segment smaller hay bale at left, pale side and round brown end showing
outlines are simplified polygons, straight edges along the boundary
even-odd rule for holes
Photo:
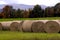
[[[18,31],[22,21],[1,22],[1,30]]]

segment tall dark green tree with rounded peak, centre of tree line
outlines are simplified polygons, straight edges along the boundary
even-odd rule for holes
[[[32,18],[42,17],[43,13],[42,13],[41,6],[35,5],[29,16]]]

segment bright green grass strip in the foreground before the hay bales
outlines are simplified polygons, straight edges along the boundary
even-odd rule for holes
[[[60,34],[0,31],[0,40],[60,40]]]

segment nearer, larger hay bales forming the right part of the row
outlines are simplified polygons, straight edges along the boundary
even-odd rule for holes
[[[47,32],[58,33],[60,30],[60,22],[58,20],[26,20],[22,24],[24,32]]]

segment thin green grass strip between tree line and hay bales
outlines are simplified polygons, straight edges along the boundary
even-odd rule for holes
[[[46,17],[46,18],[2,18],[0,21],[14,21],[14,20],[60,20],[60,17]]]

